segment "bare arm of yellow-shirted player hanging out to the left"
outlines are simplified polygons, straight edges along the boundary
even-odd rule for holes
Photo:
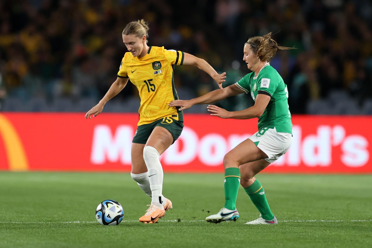
[[[85,114],[85,119],[91,119],[91,115],[93,117],[99,115],[102,110],[103,106],[114,96],[116,96],[124,87],[126,86],[126,83],[128,83],[129,78],[121,78],[118,77],[116,78],[115,82],[111,85],[105,96],[99,101],[99,103],[92,107],[86,114]]]

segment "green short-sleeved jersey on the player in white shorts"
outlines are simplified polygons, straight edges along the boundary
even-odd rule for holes
[[[275,127],[277,132],[292,134],[288,89],[283,78],[269,63],[262,67],[257,77],[251,72],[235,84],[245,93],[251,93],[254,101],[259,93],[271,97],[263,115],[258,118],[259,130]]]

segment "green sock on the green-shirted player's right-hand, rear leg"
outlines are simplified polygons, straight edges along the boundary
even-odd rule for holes
[[[260,211],[262,218],[265,220],[272,220],[274,218],[274,215],[270,210],[269,203],[267,203],[265,191],[263,190],[260,182],[256,179],[256,181],[254,181],[251,186],[244,188],[244,190],[246,190],[254,206],[256,206],[257,209]]]

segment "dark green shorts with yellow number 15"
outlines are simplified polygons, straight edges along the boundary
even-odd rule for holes
[[[183,122],[175,120],[171,117],[164,117],[163,119],[155,120],[154,122],[138,126],[132,142],[146,144],[148,137],[150,137],[156,126],[161,126],[167,129],[173,136],[174,143],[174,141],[176,141],[176,139],[178,139],[178,137],[181,135]]]

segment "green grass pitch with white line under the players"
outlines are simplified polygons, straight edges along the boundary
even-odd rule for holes
[[[138,222],[150,204],[129,173],[0,172],[0,247],[372,247],[372,175],[259,175],[278,225],[259,217],[240,188],[236,222],[205,217],[224,205],[223,174],[165,174],[173,210]],[[124,208],[123,222],[102,226],[96,206]]]

